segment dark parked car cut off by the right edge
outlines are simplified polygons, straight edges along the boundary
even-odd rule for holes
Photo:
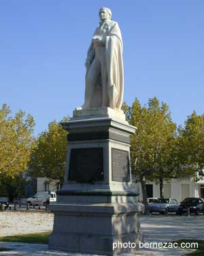
[[[198,197],[187,197],[180,203],[180,207],[177,210],[177,214],[182,215],[182,213],[186,213],[189,208],[190,214],[194,213],[199,215],[199,213],[204,214],[204,201]]]

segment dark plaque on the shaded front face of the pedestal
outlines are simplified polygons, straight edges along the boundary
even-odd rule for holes
[[[103,180],[103,147],[71,149],[69,181],[96,182]]]

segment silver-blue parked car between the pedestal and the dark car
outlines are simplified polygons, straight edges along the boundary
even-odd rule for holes
[[[161,214],[168,214],[168,212],[177,212],[180,203],[174,198],[158,198],[149,205],[150,213],[160,212]]]

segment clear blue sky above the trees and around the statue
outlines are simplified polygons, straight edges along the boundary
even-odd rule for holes
[[[35,134],[84,102],[84,61],[101,6],[124,43],[124,100],[167,102],[176,124],[204,113],[204,1],[0,1],[0,104]]]

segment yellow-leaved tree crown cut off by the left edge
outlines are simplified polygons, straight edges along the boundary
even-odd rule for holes
[[[27,170],[35,146],[35,125],[31,115],[18,111],[14,117],[9,106],[0,109],[0,176],[14,178]]]

